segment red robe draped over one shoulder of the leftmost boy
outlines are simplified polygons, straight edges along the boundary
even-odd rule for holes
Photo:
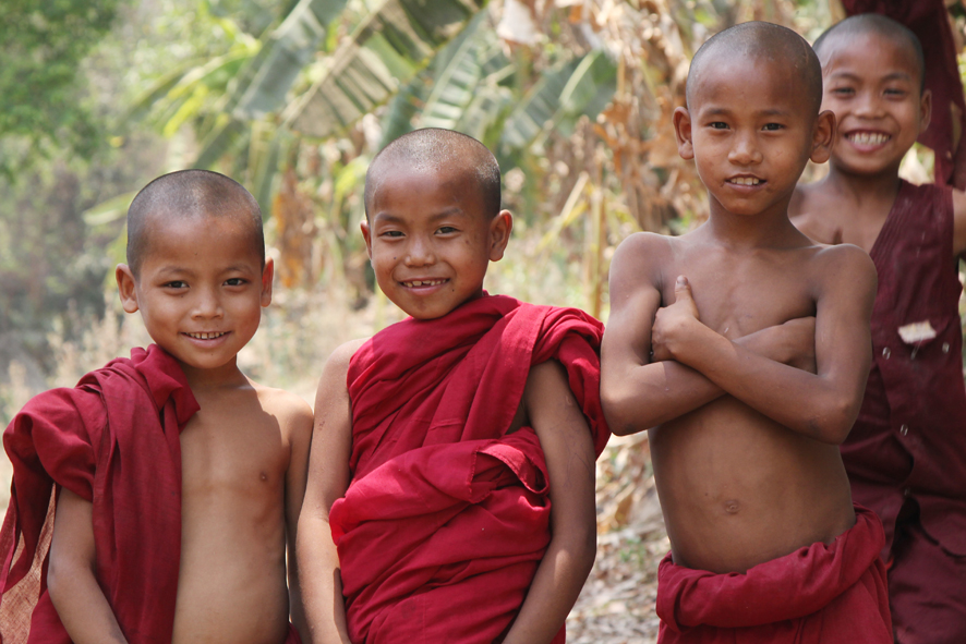
[[[96,575],[128,641],[170,643],[180,433],[197,409],[178,362],[152,345],[37,396],[13,418],[3,434],[13,484],[0,532],[0,642],[70,642],[46,584],[57,485],[94,505]]]

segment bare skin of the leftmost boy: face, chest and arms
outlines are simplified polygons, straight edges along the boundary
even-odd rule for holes
[[[196,228],[196,230],[195,230]],[[204,233],[202,233],[204,229]],[[201,405],[181,433],[181,562],[172,642],[280,644],[303,625],[288,571],[305,491],[312,411],[239,370],[238,350],[271,296],[244,226],[174,221],[153,231],[140,278],[118,268],[125,311],[181,364]],[[191,335],[212,337],[192,337]],[[63,490],[50,548],[50,597],[77,644],[125,642],[94,576],[92,505]]]

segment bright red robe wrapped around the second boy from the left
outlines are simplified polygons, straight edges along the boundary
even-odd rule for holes
[[[353,642],[490,644],[506,632],[551,536],[540,441],[507,429],[531,365],[555,359],[600,453],[602,335],[580,311],[484,296],[355,353],[353,481],[329,517]]]

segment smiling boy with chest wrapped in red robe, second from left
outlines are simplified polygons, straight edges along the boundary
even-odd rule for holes
[[[411,317],[336,350],[318,385],[312,642],[563,642],[596,543],[603,328],[483,290],[512,218],[478,141],[403,135],[365,196],[376,280]]]

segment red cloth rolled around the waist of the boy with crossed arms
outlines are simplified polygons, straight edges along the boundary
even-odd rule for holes
[[[657,571],[659,642],[674,644],[891,644],[885,543],[873,512],[832,545],[819,542],[745,574],[676,566]]]

